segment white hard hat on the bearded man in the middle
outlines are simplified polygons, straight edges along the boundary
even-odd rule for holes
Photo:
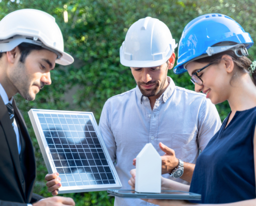
[[[120,61],[131,67],[159,66],[167,62],[176,47],[167,25],[148,16],[127,31],[120,47]]]

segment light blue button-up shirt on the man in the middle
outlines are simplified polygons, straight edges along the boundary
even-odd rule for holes
[[[115,163],[122,189],[130,190],[132,160],[147,143],[152,143],[162,156],[159,142],[175,150],[178,159],[195,164],[203,150],[219,130],[221,121],[216,107],[202,93],[169,85],[156,100],[153,110],[148,97],[138,86],[109,98],[103,107],[99,129]],[[165,178],[189,184],[170,175]],[[150,180],[148,180],[150,181]],[[140,199],[115,197],[115,205],[149,205]]]

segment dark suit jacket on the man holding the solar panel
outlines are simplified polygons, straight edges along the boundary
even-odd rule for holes
[[[8,110],[0,96],[0,205],[1,206],[25,206],[42,197],[33,194],[36,178],[36,162],[32,141],[27,132],[24,119],[12,102],[14,116],[19,125],[25,145],[28,162],[26,171],[29,174],[26,179],[26,191],[23,190],[24,177],[20,164],[16,133],[13,130]]]

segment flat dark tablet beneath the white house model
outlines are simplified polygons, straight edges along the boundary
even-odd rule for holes
[[[134,190],[108,190],[108,193],[123,198],[201,200],[201,195],[183,191],[163,190],[161,193],[137,193]]]

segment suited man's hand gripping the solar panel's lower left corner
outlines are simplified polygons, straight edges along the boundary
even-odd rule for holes
[[[46,179],[46,186],[48,187],[48,192],[52,193],[53,196],[58,194],[58,188],[62,186],[61,178],[58,177],[58,173],[47,174],[44,179]]]

